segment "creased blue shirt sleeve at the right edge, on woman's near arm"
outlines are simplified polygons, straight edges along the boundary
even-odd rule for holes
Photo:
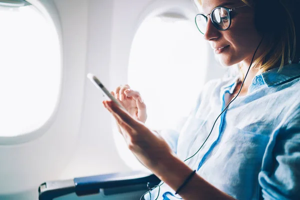
[[[299,110],[300,106],[289,109],[270,137],[258,175],[264,199],[300,199]]]

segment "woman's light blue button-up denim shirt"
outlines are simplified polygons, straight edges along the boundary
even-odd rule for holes
[[[207,82],[180,132],[161,131],[181,160],[202,145],[236,80]],[[236,199],[300,199],[300,65],[256,75],[185,163]],[[180,198],[174,193],[164,183],[158,199]]]

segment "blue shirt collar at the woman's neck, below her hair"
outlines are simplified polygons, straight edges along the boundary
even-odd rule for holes
[[[300,76],[300,64],[288,64],[261,73],[264,83],[270,87]]]

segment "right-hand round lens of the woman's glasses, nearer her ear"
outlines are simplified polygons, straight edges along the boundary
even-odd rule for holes
[[[223,7],[218,7],[211,14],[212,21],[220,30],[225,30],[229,27],[229,13]]]

